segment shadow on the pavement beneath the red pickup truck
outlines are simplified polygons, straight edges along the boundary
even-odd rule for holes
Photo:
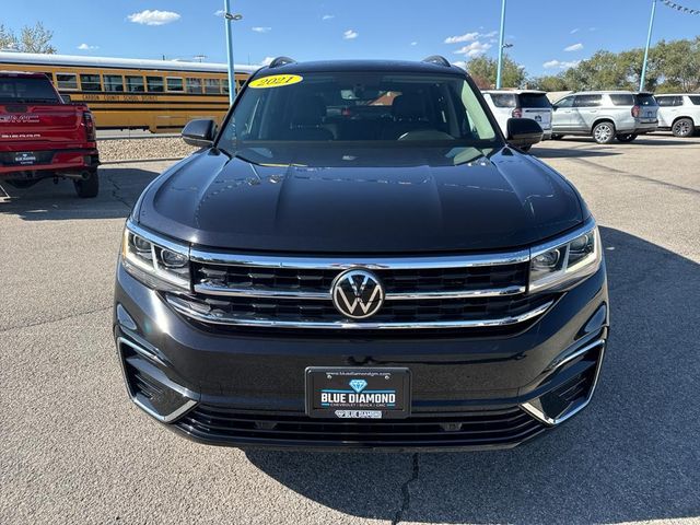
[[[80,199],[70,180],[39,180],[26,188],[0,184],[0,213],[19,215],[25,221],[126,218],[143,188],[161,172],[135,167],[100,168],[100,195]]]

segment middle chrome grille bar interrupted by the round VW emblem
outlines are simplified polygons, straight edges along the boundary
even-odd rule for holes
[[[525,293],[526,287],[505,287],[485,290],[454,290],[444,292],[411,292],[387,293],[386,301],[406,301],[424,299],[471,299],[471,298],[500,298],[504,295],[517,295]],[[213,284],[195,284],[195,292],[207,295],[224,295],[233,298],[267,298],[267,299],[307,299],[317,301],[330,301],[330,292],[313,292],[298,290],[269,290],[260,288],[228,288]]]

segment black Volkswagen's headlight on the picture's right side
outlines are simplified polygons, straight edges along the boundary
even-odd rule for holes
[[[600,234],[594,224],[583,232],[533,248],[529,291],[569,288],[595,273],[602,260]]]

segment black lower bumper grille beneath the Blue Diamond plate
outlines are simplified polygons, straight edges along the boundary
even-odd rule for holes
[[[348,422],[301,413],[280,416],[198,405],[176,425],[192,438],[211,443],[348,447],[508,446],[546,429],[518,407],[458,416]]]

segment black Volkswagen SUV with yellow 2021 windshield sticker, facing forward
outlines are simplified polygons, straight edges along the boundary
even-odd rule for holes
[[[608,337],[600,238],[474,82],[280,58],[158,177],[124,232],[131,399],[234,446],[490,448],[585,407]]]

